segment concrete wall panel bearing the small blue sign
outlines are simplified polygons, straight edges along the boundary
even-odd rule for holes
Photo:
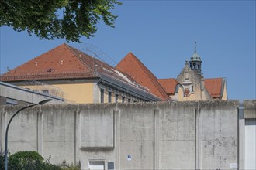
[[[119,104],[121,169],[154,168],[155,104]],[[131,160],[128,160],[128,155]]]

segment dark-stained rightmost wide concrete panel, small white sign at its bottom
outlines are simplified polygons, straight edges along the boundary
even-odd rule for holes
[[[201,104],[200,168],[229,169],[230,165],[238,164],[237,105],[227,101]]]

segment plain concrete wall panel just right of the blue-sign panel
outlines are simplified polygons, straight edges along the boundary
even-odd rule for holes
[[[160,103],[161,168],[195,168],[195,113],[190,103]],[[184,163],[185,162],[185,163]]]

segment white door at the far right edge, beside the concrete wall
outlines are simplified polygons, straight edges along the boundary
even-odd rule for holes
[[[245,119],[244,169],[256,169],[256,119]]]

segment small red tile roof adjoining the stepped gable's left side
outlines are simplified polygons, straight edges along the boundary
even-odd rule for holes
[[[161,84],[161,86],[164,88],[166,93],[168,93],[169,95],[175,93],[175,88],[178,84],[177,80],[171,78],[171,79],[158,79],[157,81]]]

